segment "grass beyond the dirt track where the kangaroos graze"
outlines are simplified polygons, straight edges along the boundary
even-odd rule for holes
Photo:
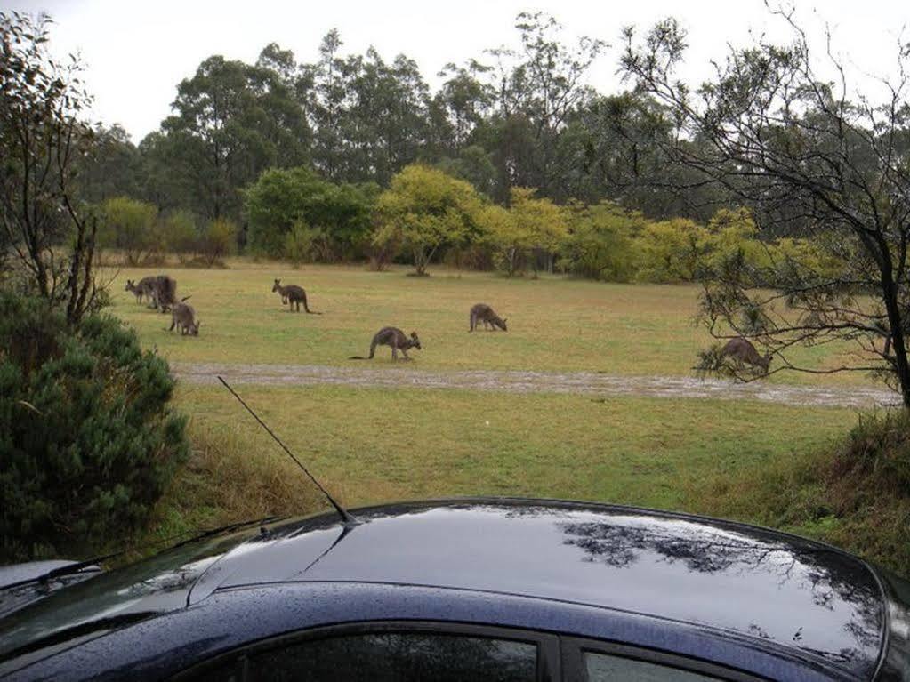
[[[136,305],[126,278],[167,270],[178,296],[202,322],[196,339],[167,334],[170,318]],[[113,312],[139,331],[147,346],[179,361],[349,365],[382,326],[416,330],[414,353],[426,369],[589,370],[621,375],[691,375],[700,348],[712,339],[696,326],[697,286],[615,285],[565,277],[507,279],[434,268],[415,278],[407,269],[374,273],[359,266],[256,264],[236,260],[228,269],[124,269],[114,281]],[[272,281],[307,289],[322,316],[283,312]],[[509,320],[509,332],[467,333],[477,302]],[[287,309],[287,308],[285,308]],[[389,364],[388,349],[377,364]],[[828,347],[795,354],[811,366],[833,366]],[[784,383],[864,382],[863,376],[781,373]]]

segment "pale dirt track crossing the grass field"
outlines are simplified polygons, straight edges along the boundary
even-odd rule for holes
[[[179,379],[193,384],[262,386],[386,386],[460,388],[505,393],[568,393],[584,396],[642,396],[764,400],[784,405],[870,407],[898,402],[897,394],[863,387],[782,386],[755,381],[736,384],[687,376],[616,376],[595,372],[477,370],[434,372],[411,366],[372,368],[313,365],[220,365],[171,363]]]

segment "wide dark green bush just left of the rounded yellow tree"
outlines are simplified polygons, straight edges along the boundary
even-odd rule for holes
[[[375,186],[337,185],[300,166],[270,169],[244,192],[249,244],[259,252],[281,256],[286,236],[299,221],[326,236],[315,254],[334,260],[356,254],[370,226]]]

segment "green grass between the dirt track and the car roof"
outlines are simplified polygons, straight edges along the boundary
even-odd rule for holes
[[[818,447],[854,421],[843,409],[715,400],[338,386],[238,391],[350,506],[504,495],[700,511],[683,480],[733,476]],[[226,391],[184,386],[177,403],[197,432],[238,439],[250,460],[289,466],[288,476],[297,476]],[[231,468],[221,476],[233,476]]]

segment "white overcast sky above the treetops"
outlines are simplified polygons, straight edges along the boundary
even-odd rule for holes
[[[728,42],[741,44],[750,30],[784,35],[763,0],[6,0],[4,5],[43,10],[54,18],[54,51],[83,56],[94,115],[106,125],[123,125],[136,143],[157,129],[170,113],[177,83],[207,56],[254,62],[262,47],[276,42],[293,50],[298,62],[315,61],[320,39],[333,27],[344,41],[342,53],[362,53],[369,45],[388,60],[403,53],[435,87],[440,67],[480,57],[489,47],[514,45],[515,15],[542,10],[561,21],[569,39],[591,35],[613,45],[591,71],[591,85],[602,92],[621,87],[615,72],[623,25],[646,27],[676,16],[689,32],[687,70],[695,76],[706,74],[708,60],[723,56]],[[832,26],[836,49],[856,74],[892,71],[895,45],[910,21],[906,3],[797,0],[796,6],[816,36],[824,22]]]

